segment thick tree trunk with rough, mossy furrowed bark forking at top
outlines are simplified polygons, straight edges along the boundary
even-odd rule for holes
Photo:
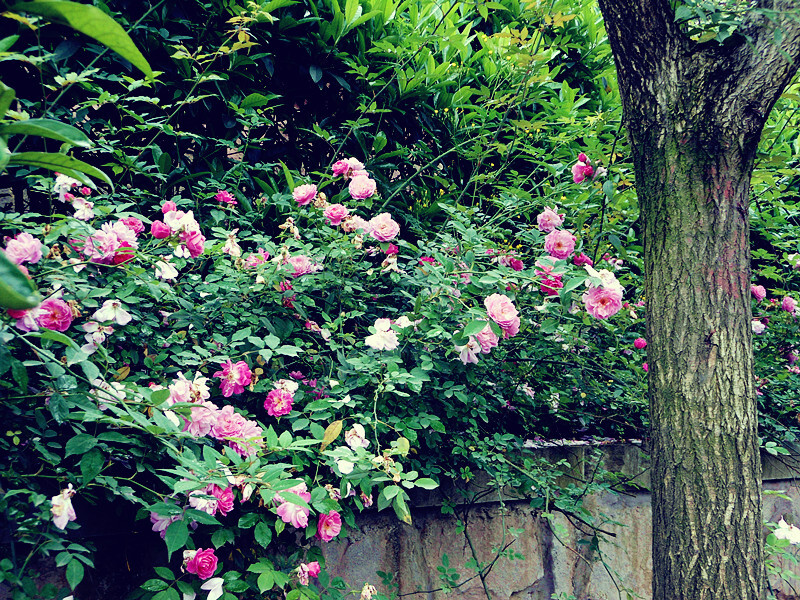
[[[766,115],[797,68],[800,0],[761,2],[724,45],[688,39],[667,0],[600,7],[644,231],[653,597],[763,598],[748,204]]]

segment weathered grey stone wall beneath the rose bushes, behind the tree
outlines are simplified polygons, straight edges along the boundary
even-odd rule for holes
[[[603,449],[606,466],[614,467],[642,486],[649,484],[647,460],[639,448],[615,445]],[[551,448],[553,458],[567,457],[575,475],[584,475],[587,462],[585,447]],[[782,515],[796,515],[800,521],[800,474],[794,460],[778,461],[767,456],[764,462],[764,518],[777,521]],[[769,491],[781,490],[781,497]],[[439,492],[441,494],[442,492]],[[443,492],[445,495],[447,491]],[[434,494],[417,499],[412,509],[413,525],[400,522],[393,514],[365,512],[357,519],[360,530],[347,539],[325,544],[323,552],[332,575],[343,577],[353,587],[365,582],[388,591],[376,575],[378,571],[394,574],[402,597],[419,600],[550,600],[561,594],[576,600],[619,600],[651,597],[651,513],[646,489],[631,488],[623,494],[604,493],[586,498],[585,506],[595,515],[605,515],[604,535],[599,545],[592,544],[590,530],[562,514],[551,521],[530,507],[525,500],[506,498],[501,503],[481,502],[461,507],[472,545],[479,562],[488,563],[496,553],[493,548],[512,542],[509,550],[524,559],[499,558],[485,581],[474,577],[447,593],[442,590],[439,568],[447,555],[449,566],[463,582],[475,575],[468,568],[472,559],[470,545],[459,532],[458,519],[443,515]],[[577,526],[576,526],[577,525]],[[521,529],[519,537],[509,529]],[[583,531],[582,531],[583,529]],[[800,573],[800,569],[795,568]],[[795,598],[786,583],[772,582],[781,598]],[[484,589],[485,585],[485,589]]]

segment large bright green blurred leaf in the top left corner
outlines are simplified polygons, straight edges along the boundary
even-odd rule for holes
[[[15,4],[10,10],[69,25],[119,54],[148,78],[153,78],[153,70],[122,26],[95,6],[62,0],[35,0]]]

